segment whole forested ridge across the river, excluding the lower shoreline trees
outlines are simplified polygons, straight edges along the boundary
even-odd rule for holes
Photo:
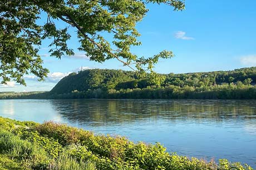
[[[252,79],[250,84],[256,83],[256,67],[240,68],[234,71],[197,72],[184,74],[165,74],[163,87],[174,86],[214,86],[215,84],[244,82]],[[248,82],[247,82],[248,83]],[[51,90],[51,93],[63,94],[73,91],[88,91],[93,89],[134,89],[154,86],[146,79],[139,79],[135,72],[115,69],[87,69],[78,73],[71,73],[61,79]]]

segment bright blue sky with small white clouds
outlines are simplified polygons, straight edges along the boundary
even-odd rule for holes
[[[137,24],[142,46],[132,48],[139,56],[152,56],[168,49],[175,57],[161,60],[155,70],[159,73],[186,73],[232,70],[256,66],[256,1],[186,0],[186,10],[174,12],[164,4],[147,4],[149,12]],[[49,91],[68,73],[87,68],[126,69],[115,59],[105,63],[92,62],[75,48],[76,54],[62,59],[48,56],[48,41],[42,44],[46,68],[50,70],[45,82],[26,76],[27,87],[8,82],[0,91]]]

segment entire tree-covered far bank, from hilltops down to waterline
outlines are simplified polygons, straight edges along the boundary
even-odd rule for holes
[[[164,74],[161,87],[135,72],[88,69],[71,73],[47,98],[256,98],[256,67],[234,71]]]

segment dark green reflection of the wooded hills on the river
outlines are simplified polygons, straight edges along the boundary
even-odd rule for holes
[[[55,100],[51,106],[68,121],[99,126],[143,119],[168,121],[237,122],[256,118],[255,101]]]

